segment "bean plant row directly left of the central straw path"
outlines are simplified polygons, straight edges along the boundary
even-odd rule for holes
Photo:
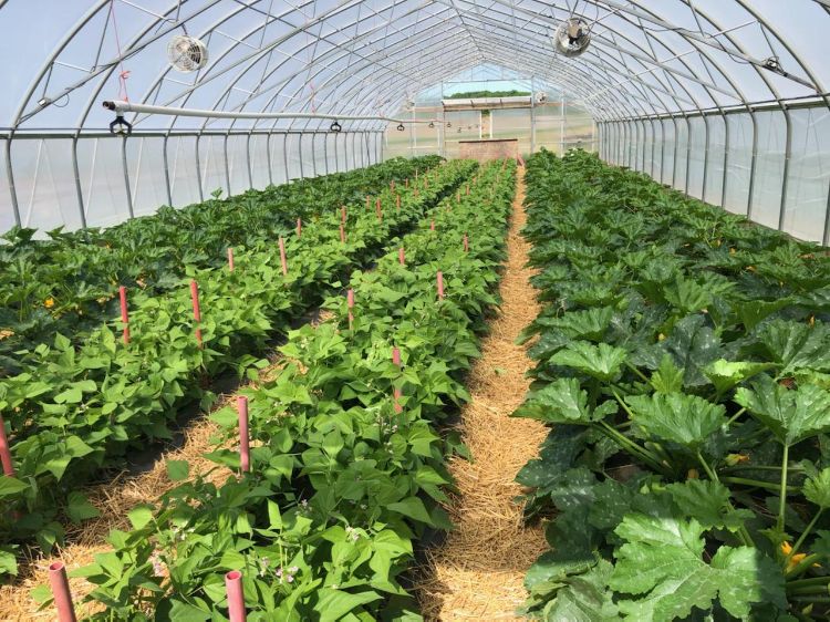
[[[353,276],[353,307],[331,298],[332,319],[289,334],[280,373],[243,391],[250,471],[220,485],[203,474],[132,510],[134,529],[113,531],[114,550],[75,572],[107,608],[93,619],[226,620],[230,570],[242,572],[248,620],[419,619],[398,578],[413,540],[449,527],[445,455],[463,448],[432,424],[468,398],[513,182],[513,163],[484,167],[469,195],[394,245],[405,265],[391,251]],[[239,468],[221,448],[238,438],[236,412],[214,418],[226,433],[210,457]],[[172,477],[187,477],[181,466]]]

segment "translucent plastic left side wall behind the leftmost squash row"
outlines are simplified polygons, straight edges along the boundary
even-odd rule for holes
[[[20,134],[0,149],[0,232],[111,227],[293,179],[382,160],[382,132]],[[11,164],[9,164],[11,163]]]

